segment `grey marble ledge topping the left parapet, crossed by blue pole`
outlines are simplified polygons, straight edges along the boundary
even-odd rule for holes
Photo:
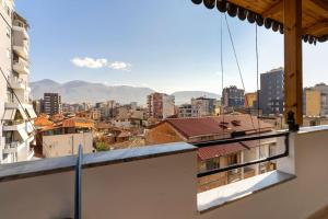
[[[136,160],[151,159],[195,150],[197,150],[197,148],[191,145],[176,142],[89,153],[83,155],[83,168],[131,162]],[[77,157],[69,155],[62,158],[50,158],[37,161],[3,164],[0,165],[0,182],[72,171],[75,166],[75,163]]]

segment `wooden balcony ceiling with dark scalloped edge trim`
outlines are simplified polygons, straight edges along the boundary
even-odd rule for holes
[[[283,0],[191,0],[208,9],[216,8],[231,16],[283,33]],[[301,0],[300,0],[301,1]],[[302,0],[303,39],[308,43],[328,41],[328,0]]]

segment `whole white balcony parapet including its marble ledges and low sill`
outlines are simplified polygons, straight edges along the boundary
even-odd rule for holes
[[[327,126],[292,132],[276,171],[203,193],[196,148],[184,142],[84,154],[82,218],[308,218],[328,206],[327,141]],[[72,218],[75,163],[63,157],[1,165],[0,218]]]

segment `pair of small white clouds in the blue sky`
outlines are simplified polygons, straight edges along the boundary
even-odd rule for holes
[[[124,70],[124,71],[130,71],[131,65],[124,62],[124,61],[114,61],[109,62],[105,58],[94,59],[90,57],[79,58],[75,57],[71,60],[71,62],[80,68],[92,68],[92,69],[98,69],[108,67],[114,70]]]

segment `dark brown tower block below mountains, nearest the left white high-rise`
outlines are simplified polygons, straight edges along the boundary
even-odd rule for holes
[[[44,93],[43,113],[54,116],[61,114],[61,96],[58,93]]]

